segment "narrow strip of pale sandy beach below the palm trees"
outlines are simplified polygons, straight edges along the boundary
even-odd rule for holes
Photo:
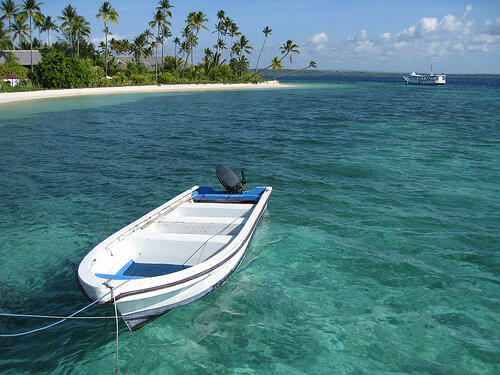
[[[71,96],[85,95],[110,95],[110,94],[133,94],[147,92],[181,92],[181,91],[215,91],[215,90],[245,90],[245,89],[267,89],[284,88],[278,81],[267,81],[262,83],[205,83],[205,84],[175,84],[175,85],[150,85],[150,86],[120,86],[120,87],[93,87],[82,89],[61,90],[39,90],[25,92],[0,93],[0,105],[13,102],[30,100],[65,98]]]

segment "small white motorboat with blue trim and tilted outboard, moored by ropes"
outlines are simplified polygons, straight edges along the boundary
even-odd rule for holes
[[[238,177],[227,171],[226,191],[194,186],[91,250],[78,267],[82,292],[115,302],[133,331],[220,286],[241,263],[272,193],[232,190]]]

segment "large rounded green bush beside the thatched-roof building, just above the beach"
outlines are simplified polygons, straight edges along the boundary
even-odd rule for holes
[[[35,65],[33,78],[45,88],[89,87],[99,80],[99,71],[89,59],[64,57],[61,52],[51,52]]]

